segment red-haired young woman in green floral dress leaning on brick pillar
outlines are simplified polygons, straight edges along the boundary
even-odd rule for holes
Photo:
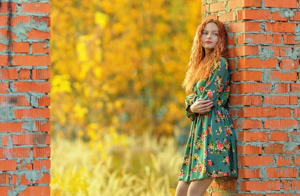
[[[192,121],[175,196],[203,196],[215,177],[237,176],[235,132],[224,107],[229,96],[224,24],[198,26],[182,86],[185,114]]]

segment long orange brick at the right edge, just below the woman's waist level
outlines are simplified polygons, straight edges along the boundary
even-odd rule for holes
[[[294,119],[266,119],[263,128],[297,128],[297,120]]]

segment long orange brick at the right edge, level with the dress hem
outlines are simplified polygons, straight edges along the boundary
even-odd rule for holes
[[[297,169],[295,167],[275,167],[265,168],[267,177],[296,177]]]

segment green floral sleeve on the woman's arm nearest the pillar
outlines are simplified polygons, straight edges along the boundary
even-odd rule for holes
[[[200,90],[203,92],[201,97],[204,100],[211,100],[212,105],[215,105],[224,86],[226,85],[225,82],[229,74],[226,58],[221,57],[221,60],[216,62],[211,70],[211,74],[208,77],[205,87]]]

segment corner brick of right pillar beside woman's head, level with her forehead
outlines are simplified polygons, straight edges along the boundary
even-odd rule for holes
[[[228,24],[228,32],[260,32],[260,22],[235,22]]]

